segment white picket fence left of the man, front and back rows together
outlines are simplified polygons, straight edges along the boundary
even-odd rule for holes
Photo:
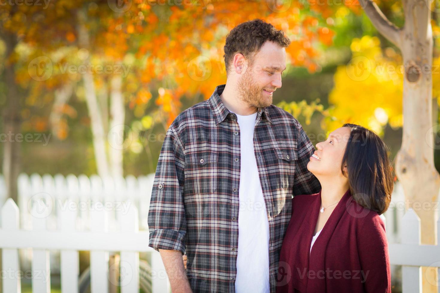
[[[120,286],[122,293],[139,292],[139,253],[143,252],[150,254],[152,291],[169,292],[160,254],[148,247],[146,221],[153,179],[154,175],[127,177],[114,183],[97,176],[21,174],[19,205],[7,199],[1,207],[3,292],[21,292],[20,281],[26,274],[32,276],[33,293],[50,292],[53,264],[61,274],[62,292],[77,293],[78,251],[83,250],[90,251],[92,293],[109,292],[112,285]],[[109,253],[120,255],[110,268]],[[120,279],[110,277],[112,270],[121,273]]]

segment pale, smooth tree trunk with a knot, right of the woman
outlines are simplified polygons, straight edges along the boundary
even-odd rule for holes
[[[396,157],[396,174],[403,186],[407,208],[412,208],[420,217],[422,244],[433,245],[436,244],[435,202],[440,175],[434,166],[432,0],[403,0],[405,25],[402,29],[389,22],[371,0],[360,0],[360,3],[376,29],[402,51],[403,137]],[[435,270],[422,268],[422,279],[423,292],[437,292]]]

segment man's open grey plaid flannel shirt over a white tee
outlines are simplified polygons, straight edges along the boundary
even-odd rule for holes
[[[220,99],[224,86],[169,127],[148,213],[149,246],[186,251],[194,292],[235,293],[240,129],[237,116]],[[320,190],[307,170],[315,148],[301,124],[274,105],[258,110],[253,143],[268,212],[269,281],[275,292],[292,196]]]

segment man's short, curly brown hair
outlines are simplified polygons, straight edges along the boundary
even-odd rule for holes
[[[273,25],[262,19],[254,19],[237,25],[226,36],[224,45],[224,64],[226,73],[237,53],[243,54],[249,63],[253,64],[255,54],[260,51],[266,41],[278,43],[281,47],[288,47],[290,39],[282,30],[275,29]]]

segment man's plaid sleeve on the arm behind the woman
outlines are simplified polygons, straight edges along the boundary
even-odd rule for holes
[[[307,169],[307,164],[315,152],[315,147],[299,122],[297,123],[296,133],[298,161],[293,182],[293,195],[318,193],[321,190],[321,184],[315,175]]]

